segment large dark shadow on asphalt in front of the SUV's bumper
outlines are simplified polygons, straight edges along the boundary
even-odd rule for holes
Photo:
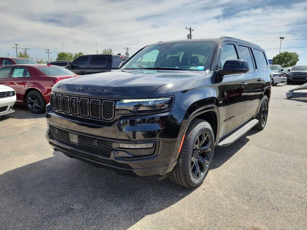
[[[127,229],[195,190],[53,154],[0,175],[2,229]]]

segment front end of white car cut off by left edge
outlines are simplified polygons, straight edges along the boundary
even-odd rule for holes
[[[12,109],[16,102],[15,90],[11,87],[0,85],[0,117],[14,113]]]

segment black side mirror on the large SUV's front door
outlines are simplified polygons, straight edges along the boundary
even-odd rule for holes
[[[218,70],[220,75],[229,74],[244,74],[249,71],[247,61],[244,60],[227,60],[224,63],[223,69]]]

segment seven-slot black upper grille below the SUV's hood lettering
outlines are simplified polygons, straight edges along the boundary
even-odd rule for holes
[[[114,118],[115,101],[99,98],[83,98],[52,93],[50,97],[52,110],[74,116],[103,119]]]

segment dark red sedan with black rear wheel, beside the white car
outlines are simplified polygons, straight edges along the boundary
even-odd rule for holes
[[[0,68],[0,85],[16,91],[16,105],[26,105],[32,113],[44,113],[52,86],[74,72],[50,64],[6,65]]]

